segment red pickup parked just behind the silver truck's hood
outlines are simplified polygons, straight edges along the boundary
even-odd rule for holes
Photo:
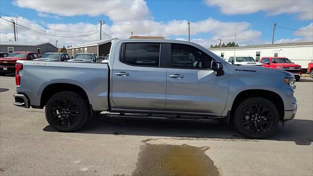
[[[260,63],[268,68],[289,71],[294,75],[296,81],[299,81],[302,75],[301,66],[294,64],[291,60],[285,57],[263,57],[261,58]]]

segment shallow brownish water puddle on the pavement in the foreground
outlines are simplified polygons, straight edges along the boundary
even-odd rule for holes
[[[145,144],[139,153],[133,176],[220,176],[204,152],[209,147]]]

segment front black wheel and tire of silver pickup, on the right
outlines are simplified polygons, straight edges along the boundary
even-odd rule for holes
[[[248,138],[262,139],[267,137],[276,130],[278,122],[277,108],[265,98],[246,99],[235,110],[234,123],[236,129]]]

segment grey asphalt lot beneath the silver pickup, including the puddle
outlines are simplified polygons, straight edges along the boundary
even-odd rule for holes
[[[44,110],[12,105],[14,77],[0,77],[0,175],[313,175],[313,79],[296,83],[294,120],[266,140],[223,122],[98,117],[55,132]]]

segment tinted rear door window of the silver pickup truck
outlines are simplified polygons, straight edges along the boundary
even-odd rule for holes
[[[123,62],[134,66],[159,66],[159,43],[126,43]]]

